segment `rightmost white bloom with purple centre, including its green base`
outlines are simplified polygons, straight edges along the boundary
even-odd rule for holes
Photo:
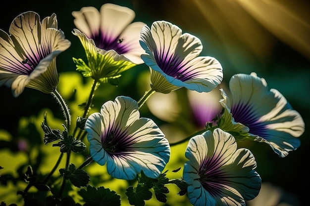
[[[269,90],[255,73],[234,75],[229,88],[229,96],[221,90],[225,109],[218,124],[221,129],[234,134],[237,141],[265,142],[280,157],[300,146],[296,137],[305,131],[305,123],[278,90]]]

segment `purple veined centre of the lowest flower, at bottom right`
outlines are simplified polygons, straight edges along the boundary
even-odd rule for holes
[[[227,182],[225,173],[222,172],[219,167],[220,158],[213,156],[209,159],[205,159],[201,163],[198,171],[200,183],[203,188],[213,196],[220,195],[222,184]]]

